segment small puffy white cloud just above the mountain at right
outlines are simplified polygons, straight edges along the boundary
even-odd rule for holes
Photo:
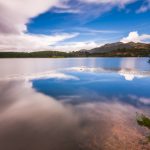
[[[139,35],[139,33],[137,31],[134,31],[134,32],[130,32],[127,37],[122,38],[121,42],[123,42],[123,43],[128,43],[128,42],[138,43],[138,42],[146,42],[147,40],[150,40],[149,34]]]

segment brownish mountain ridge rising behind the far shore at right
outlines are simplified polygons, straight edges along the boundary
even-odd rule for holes
[[[150,44],[145,44],[145,43],[134,43],[134,42],[129,42],[129,43],[122,43],[122,42],[117,42],[117,43],[111,43],[111,44],[105,44],[104,46],[94,48],[92,50],[89,50],[88,52],[93,54],[93,53],[107,53],[107,52],[112,52],[112,51],[123,51],[123,50],[150,50]]]

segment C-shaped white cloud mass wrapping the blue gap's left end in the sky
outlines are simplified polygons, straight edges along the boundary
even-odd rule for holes
[[[67,0],[0,0],[0,50],[45,50],[49,45],[73,38],[77,33],[37,35],[27,33],[30,20],[52,7],[63,7]]]

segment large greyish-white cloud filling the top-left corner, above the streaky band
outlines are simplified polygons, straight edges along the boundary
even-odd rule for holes
[[[0,33],[20,34],[27,31],[26,24],[31,18],[53,6],[61,6],[61,0],[0,0]]]

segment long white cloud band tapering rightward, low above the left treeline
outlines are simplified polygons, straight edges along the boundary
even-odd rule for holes
[[[0,35],[0,51],[37,51],[49,50],[51,45],[76,37],[78,33],[59,35],[11,34]]]

